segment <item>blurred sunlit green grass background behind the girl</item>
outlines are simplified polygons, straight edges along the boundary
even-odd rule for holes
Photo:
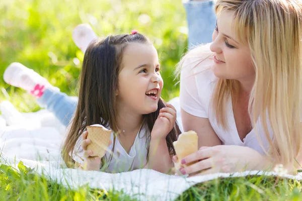
[[[0,102],[10,100],[20,112],[39,110],[35,98],[4,82],[3,73],[12,62],[34,69],[68,95],[77,95],[84,54],[71,34],[82,23],[90,24],[99,36],[135,29],[150,38],[162,63],[162,97],[169,100],[179,94],[173,72],[187,48],[181,0],[1,0]]]

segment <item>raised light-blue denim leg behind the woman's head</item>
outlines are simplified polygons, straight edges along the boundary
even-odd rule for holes
[[[216,26],[213,0],[188,1],[184,3],[188,21],[188,43],[194,45],[212,42]]]

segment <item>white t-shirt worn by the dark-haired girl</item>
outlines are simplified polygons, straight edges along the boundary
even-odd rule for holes
[[[109,129],[109,128],[108,128]],[[118,138],[115,138],[115,147],[112,155],[111,161],[109,164],[107,163],[107,168],[104,170],[108,173],[119,173],[119,172],[127,172],[135,169],[142,169],[146,165],[146,156],[147,156],[147,148],[146,148],[146,139],[149,135],[149,132],[146,132],[145,128],[140,129],[140,132],[137,133],[134,143],[129,151],[129,154],[125,151],[125,149],[120,144]],[[110,140],[113,142],[114,134],[111,133]],[[84,160],[84,152],[81,147],[82,137],[77,141],[77,144],[74,148],[73,160],[83,164]],[[110,159],[111,150],[113,147],[113,143],[108,147],[108,151],[105,154],[107,160]]]

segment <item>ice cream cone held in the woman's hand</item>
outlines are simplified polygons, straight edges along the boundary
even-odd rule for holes
[[[179,169],[181,167],[181,160],[184,157],[198,151],[198,136],[194,131],[182,133],[179,135],[178,140],[173,142],[173,146],[178,158],[175,168]],[[191,164],[193,163],[187,165]]]

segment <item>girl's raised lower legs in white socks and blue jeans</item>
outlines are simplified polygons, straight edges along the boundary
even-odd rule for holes
[[[72,39],[83,52],[97,35],[88,24],[77,26],[72,32]],[[12,63],[4,73],[4,80],[27,90],[37,97],[37,103],[54,114],[67,126],[77,107],[78,97],[67,96],[59,88],[52,86],[45,78],[21,63]]]

